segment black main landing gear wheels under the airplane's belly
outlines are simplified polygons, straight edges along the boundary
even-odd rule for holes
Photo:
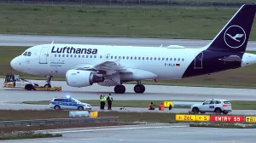
[[[145,87],[141,83],[141,81],[138,81],[137,85],[134,86],[134,92],[137,94],[143,94],[145,92]],[[125,94],[125,86],[122,84],[116,85],[114,87],[114,93],[115,94]]]

